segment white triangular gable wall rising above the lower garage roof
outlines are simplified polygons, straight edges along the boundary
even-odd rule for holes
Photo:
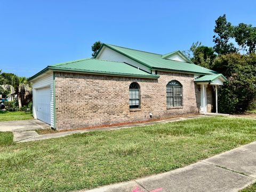
[[[130,59],[129,57],[126,57],[125,55],[118,53],[117,51],[114,51],[107,46],[102,47],[100,52],[97,54],[96,59],[125,62],[130,64],[131,66],[134,66],[136,68],[147,71],[148,73],[151,73],[151,69],[149,67],[142,65],[141,63],[134,61],[133,59]]]

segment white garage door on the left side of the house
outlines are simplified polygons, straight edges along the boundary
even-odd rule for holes
[[[51,89],[45,87],[37,89],[37,119],[51,124]]]

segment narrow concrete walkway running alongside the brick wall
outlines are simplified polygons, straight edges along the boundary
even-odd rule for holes
[[[57,133],[41,134],[41,135],[37,134],[35,131],[34,132],[24,131],[24,132],[16,132],[16,133],[14,132],[13,134],[14,134],[14,141],[16,141],[16,142],[27,142],[27,141],[38,141],[38,140],[44,140],[44,139],[65,137],[67,135],[71,135],[71,134],[75,134],[75,133],[85,133],[85,132],[90,132],[90,131],[109,131],[109,130],[127,129],[127,128],[131,128],[131,127],[154,125],[154,124],[159,124],[159,123],[170,123],[170,122],[183,121],[183,120],[187,120],[187,119],[200,118],[200,117],[205,117],[205,115],[177,117],[177,118],[170,118],[170,119],[164,119],[164,120],[161,120],[161,121],[152,121],[152,122],[146,122],[146,123],[120,125],[120,126],[109,126],[109,127],[103,127],[103,128],[57,132]],[[33,135],[33,136],[31,136],[31,135]]]

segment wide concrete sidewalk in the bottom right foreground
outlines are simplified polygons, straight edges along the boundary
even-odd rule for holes
[[[79,192],[231,192],[253,182],[256,182],[256,142],[177,170]]]

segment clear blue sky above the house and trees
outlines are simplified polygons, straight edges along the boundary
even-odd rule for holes
[[[95,41],[165,54],[213,46],[215,20],[256,26],[256,1],[0,0],[0,69],[30,77],[90,58]]]

